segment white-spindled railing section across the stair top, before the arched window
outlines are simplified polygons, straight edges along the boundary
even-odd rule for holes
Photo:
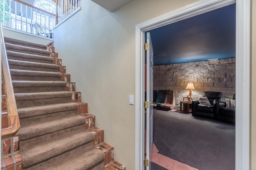
[[[4,27],[53,38],[56,16],[20,0],[1,0]]]

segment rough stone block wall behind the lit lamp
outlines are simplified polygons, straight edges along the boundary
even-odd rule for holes
[[[154,66],[154,90],[174,90],[176,108],[188,96],[189,82],[196,89],[193,100],[203,91],[222,92],[222,101],[231,99],[236,92],[236,58]]]

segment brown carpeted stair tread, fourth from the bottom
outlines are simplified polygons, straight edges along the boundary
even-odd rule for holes
[[[74,110],[78,108],[78,104],[73,102],[60,103],[60,104],[49,104],[43,106],[31,106],[18,108],[19,118],[26,118],[38,115],[46,115],[50,113],[57,113],[62,111]]]

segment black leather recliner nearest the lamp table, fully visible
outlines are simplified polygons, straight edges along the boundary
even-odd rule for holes
[[[192,115],[193,116],[201,116],[208,118],[216,118],[216,107],[214,107],[215,103],[220,102],[221,92],[203,92],[203,97],[207,97],[210,105],[208,104],[200,104],[198,100],[192,101]]]

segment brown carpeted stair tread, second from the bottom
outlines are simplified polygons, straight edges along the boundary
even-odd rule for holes
[[[30,148],[23,147],[20,149],[22,165],[23,167],[31,166],[92,141],[94,141],[94,134],[81,129],[76,133],[58,137],[58,139],[36,143]]]

